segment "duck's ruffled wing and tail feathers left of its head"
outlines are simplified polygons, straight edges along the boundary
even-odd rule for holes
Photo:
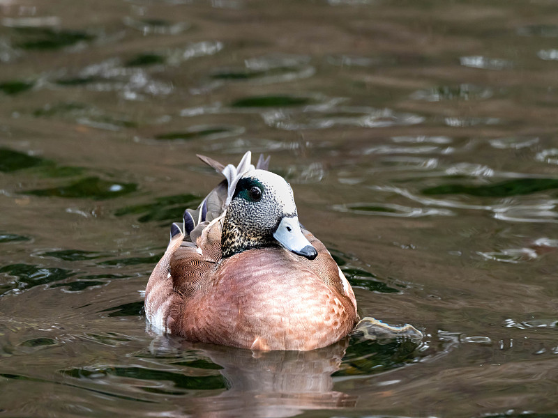
[[[223,217],[234,195],[236,184],[246,171],[254,169],[252,153],[243,155],[238,166],[225,166],[204,155],[200,160],[213,167],[222,180],[193,210],[186,209],[183,222],[171,226],[171,239],[165,254],[149,277],[145,291],[145,312],[148,322],[159,331],[168,332],[177,313],[171,307],[181,307],[188,297],[203,292],[211,285],[212,273],[221,259]],[[269,157],[263,155],[258,169],[269,167]]]

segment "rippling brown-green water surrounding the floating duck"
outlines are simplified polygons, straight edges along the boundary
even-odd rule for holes
[[[2,1],[0,416],[558,416],[552,1]],[[252,353],[146,333],[168,226],[271,154],[361,316]]]

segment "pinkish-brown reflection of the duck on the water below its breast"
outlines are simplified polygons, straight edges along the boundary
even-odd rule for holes
[[[175,340],[176,343],[176,340]],[[349,339],[311,351],[259,352],[181,342],[223,367],[228,390],[188,398],[186,415],[196,417],[292,417],[304,410],[351,408],[356,397],[333,390]]]

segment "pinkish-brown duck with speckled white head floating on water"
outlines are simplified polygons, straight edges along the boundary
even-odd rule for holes
[[[308,351],[359,322],[353,289],[324,244],[299,222],[292,187],[269,157],[234,167],[181,223],[145,291],[149,330],[251,350]]]

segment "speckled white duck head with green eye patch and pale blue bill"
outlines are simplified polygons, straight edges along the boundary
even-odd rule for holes
[[[310,260],[317,256],[301,231],[292,189],[285,179],[271,171],[247,171],[236,184],[223,220],[223,258],[278,245]]]

